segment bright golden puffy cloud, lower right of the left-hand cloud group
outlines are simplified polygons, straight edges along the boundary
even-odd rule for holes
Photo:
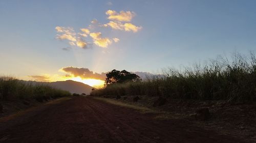
[[[112,44],[112,41],[109,38],[101,38],[101,33],[91,33],[90,36],[93,38],[93,43],[96,44],[99,47],[106,48],[110,44]]]

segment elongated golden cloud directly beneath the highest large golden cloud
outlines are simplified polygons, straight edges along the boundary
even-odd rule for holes
[[[136,26],[132,23],[124,23],[122,24],[121,22],[117,21],[110,21],[109,23],[104,24],[103,26],[107,27],[110,26],[115,30],[121,30],[121,31],[132,31],[134,33],[138,32],[141,30],[142,26]]]

